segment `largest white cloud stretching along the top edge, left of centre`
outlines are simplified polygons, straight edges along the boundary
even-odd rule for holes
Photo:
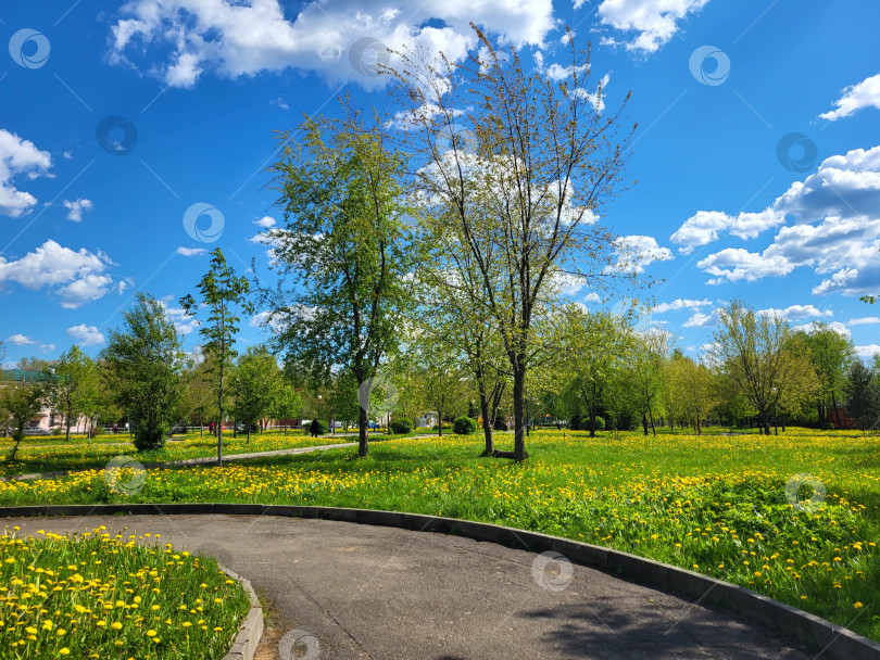
[[[131,64],[144,51],[156,53],[161,60],[148,68],[172,87],[192,87],[206,71],[237,78],[288,67],[375,87],[384,84],[374,72],[377,58],[390,56],[387,49],[424,47],[464,60],[476,46],[470,21],[517,43],[540,45],[555,27],[551,0],[285,4],[130,0],[112,28],[111,61]]]

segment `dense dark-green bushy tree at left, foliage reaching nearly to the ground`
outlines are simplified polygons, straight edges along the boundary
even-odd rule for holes
[[[138,292],[123,320],[101,352],[102,377],[134,427],[137,449],[159,449],[180,405],[180,340],[165,307],[147,293]]]

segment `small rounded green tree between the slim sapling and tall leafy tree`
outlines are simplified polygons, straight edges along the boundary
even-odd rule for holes
[[[238,359],[232,376],[236,422],[244,424],[248,442],[251,427],[272,414],[280,390],[281,370],[275,356],[265,346],[248,348]]]

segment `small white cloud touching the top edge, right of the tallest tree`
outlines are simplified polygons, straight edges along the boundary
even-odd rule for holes
[[[605,38],[603,43],[623,43],[627,50],[653,53],[676,35],[681,18],[707,3],[708,0],[603,0],[599,5],[603,24],[637,33],[629,41]]]

